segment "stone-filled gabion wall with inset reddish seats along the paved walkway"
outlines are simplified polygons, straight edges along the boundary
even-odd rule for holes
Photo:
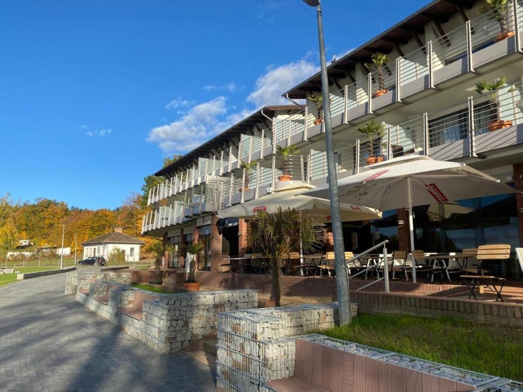
[[[76,299],[163,354],[183,350],[214,332],[219,312],[253,309],[258,303],[254,290],[158,294],[158,299],[143,302],[142,319],[137,320],[118,309],[131,307],[137,292],[155,293],[118,286],[110,290],[107,305],[95,299],[106,294],[107,282],[102,281],[91,282],[87,295],[77,291]]]

